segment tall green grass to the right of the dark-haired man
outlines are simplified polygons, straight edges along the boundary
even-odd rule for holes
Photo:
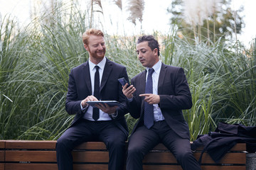
[[[183,113],[191,140],[214,130],[219,122],[256,125],[255,46],[246,51],[240,44],[221,42],[191,44],[167,35],[163,43],[164,62],[186,71],[193,106]]]

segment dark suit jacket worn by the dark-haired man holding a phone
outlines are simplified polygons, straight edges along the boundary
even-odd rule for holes
[[[134,100],[129,103],[129,113],[133,118],[140,118],[134,126],[136,130],[138,125],[144,123],[144,98],[139,97],[139,94],[145,93],[146,70],[133,77],[131,84],[137,89],[134,93]],[[180,137],[189,139],[188,124],[184,120],[182,110],[191,108],[192,98],[181,67],[161,64],[158,94],[160,96],[159,108],[170,128]]]

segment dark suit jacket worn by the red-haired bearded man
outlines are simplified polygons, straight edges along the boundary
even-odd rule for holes
[[[117,118],[112,118],[114,123],[128,135],[127,123],[124,115],[127,113],[127,98],[122,93],[122,85],[117,79],[124,77],[128,79],[127,70],[121,64],[117,64],[107,59],[105,69],[102,74],[100,84],[100,100],[102,101],[119,101],[124,106],[117,108]],[[90,79],[89,63],[85,62],[71,70],[68,79],[68,94],[65,108],[68,114],[75,114],[71,126],[83,118],[85,111],[81,111],[80,103],[87,96],[92,95],[92,85]],[[99,98],[98,98],[99,99]]]

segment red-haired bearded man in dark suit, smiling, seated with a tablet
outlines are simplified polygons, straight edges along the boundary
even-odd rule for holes
[[[102,141],[110,153],[109,169],[124,166],[125,141],[128,136],[127,98],[117,79],[128,79],[124,66],[105,57],[105,40],[101,30],[91,28],[82,35],[89,60],[71,70],[68,80],[66,111],[75,118],[57,140],[58,169],[73,169],[72,149],[82,142]],[[92,108],[87,101],[119,101],[124,106],[98,104]]]

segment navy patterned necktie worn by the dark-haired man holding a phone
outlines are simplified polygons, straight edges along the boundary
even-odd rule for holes
[[[145,87],[145,94],[153,94],[153,81],[152,81],[152,74],[154,69],[149,69],[148,77],[146,79],[146,87]],[[154,124],[154,107],[152,104],[147,103],[144,101],[144,125],[146,128],[151,128]]]

